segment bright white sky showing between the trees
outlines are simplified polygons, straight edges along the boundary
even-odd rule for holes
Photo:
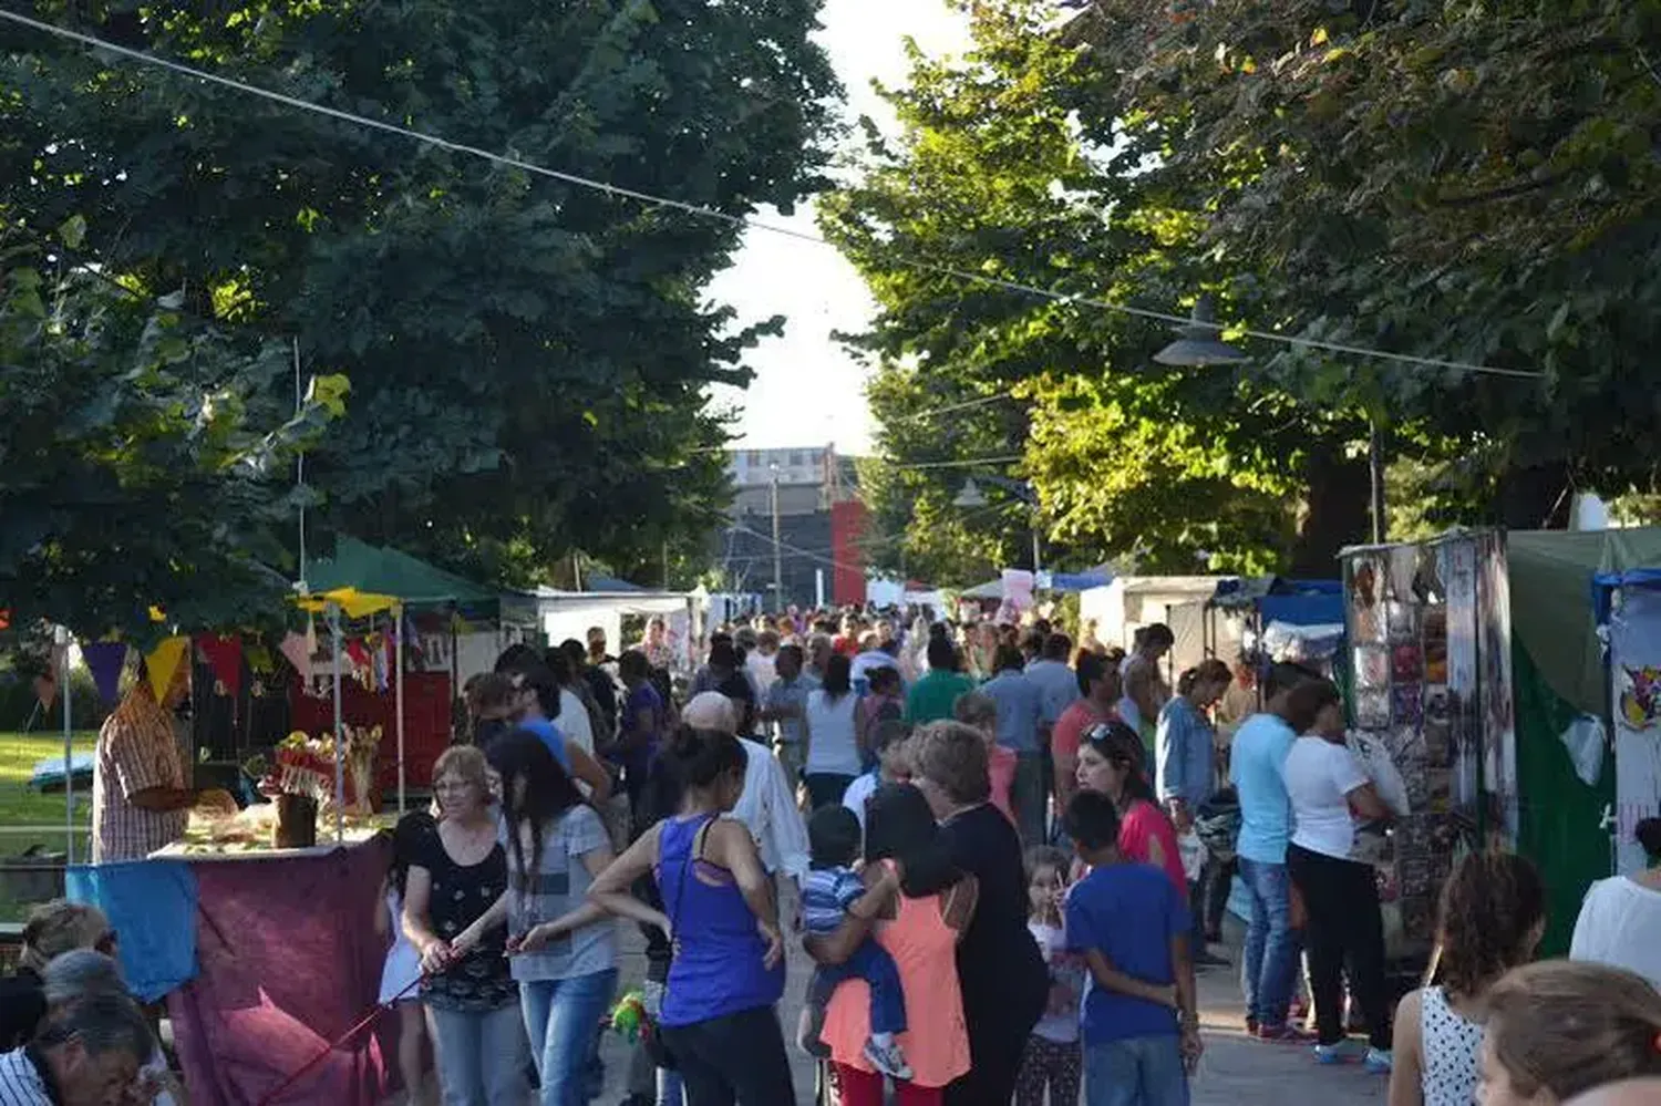
[[[884,128],[892,128],[894,118],[870,81],[904,81],[907,37],[930,55],[962,53],[968,45],[963,17],[942,0],[826,0],[821,22],[817,40],[847,91],[847,118],[869,115]],[[817,232],[809,204],[787,219],[772,211],[756,218]],[[830,335],[864,330],[875,306],[837,251],[749,231],[709,296],[737,309],[742,324],[786,317],[782,337],[762,339],[751,350],[756,379],[749,389],[714,394],[718,407],[739,414],[734,448],[834,443],[840,453],[869,452],[875,427],[865,405],[865,370]]]

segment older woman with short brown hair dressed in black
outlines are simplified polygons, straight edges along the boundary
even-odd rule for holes
[[[1026,928],[1022,842],[988,802],[987,742],[978,731],[932,722],[912,737],[910,754],[912,782],[940,819],[952,862],[980,882],[975,917],[957,947],[973,1069],[945,1089],[945,1103],[1008,1106],[1050,993],[1050,971]]]

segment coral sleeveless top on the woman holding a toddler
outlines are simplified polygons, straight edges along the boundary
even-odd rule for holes
[[[905,1050],[912,1083],[922,1088],[945,1086],[968,1071],[968,1023],[957,985],[957,932],[942,913],[950,893],[925,898],[902,895],[894,920],[879,922],[872,930],[874,940],[900,970],[900,991],[912,1013],[907,1018],[910,1028],[894,1040]],[[847,978],[830,996],[821,1040],[830,1046],[835,1063],[872,1071],[865,1060],[869,1038],[870,986],[857,976]]]

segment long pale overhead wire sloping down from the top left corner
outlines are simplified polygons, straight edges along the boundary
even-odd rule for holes
[[[590,191],[598,191],[598,193],[603,193],[606,196],[615,196],[615,198],[621,198],[621,199],[633,199],[636,203],[651,204],[651,206],[656,206],[656,208],[666,208],[666,209],[673,209],[673,211],[681,211],[684,214],[698,216],[698,218],[703,218],[703,219],[719,221],[719,223],[724,223],[728,226],[733,226],[733,228],[737,228],[737,229],[742,229],[742,231],[762,231],[766,234],[776,234],[776,236],[781,236],[781,237],[792,237],[792,239],[797,239],[801,242],[807,242],[807,244],[819,246],[819,247],[824,247],[824,249],[835,249],[835,244],[832,244],[830,241],[827,241],[824,236],[814,234],[811,231],[801,231],[801,229],[796,229],[796,228],[791,228],[791,226],[786,226],[786,224],[781,224],[781,223],[771,223],[771,221],[766,221],[766,219],[756,219],[752,216],[729,214],[729,213],[719,211],[716,208],[708,208],[708,206],[703,206],[703,204],[693,204],[693,203],[688,203],[688,201],[683,201],[683,199],[673,199],[669,196],[658,196],[654,193],[646,193],[646,191],[635,189],[635,188],[626,188],[626,186],[621,186],[621,184],[611,184],[608,181],[598,181],[598,179],[583,176],[580,173],[566,173],[566,171],[561,171],[561,169],[550,169],[546,166],[537,164],[533,161],[527,161],[523,158],[515,158],[512,154],[498,154],[495,151],[483,149],[480,146],[470,146],[467,143],[458,143],[458,141],[453,141],[453,139],[448,139],[448,138],[440,138],[440,136],[430,135],[427,131],[417,131],[417,130],[412,130],[412,128],[407,128],[407,126],[399,126],[397,123],[387,123],[384,120],[374,120],[374,118],[369,118],[369,116],[364,116],[364,115],[357,115],[354,111],[342,111],[339,108],[331,108],[327,105],[314,103],[311,100],[302,100],[299,96],[291,96],[287,93],[281,93],[281,91],[276,91],[276,90],[271,90],[271,88],[264,88],[261,85],[252,85],[252,83],[247,83],[247,81],[241,81],[241,80],[236,80],[233,76],[223,76],[219,73],[211,73],[208,70],[201,70],[201,68],[196,68],[193,65],[184,65],[181,61],[174,61],[171,58],[163,58],[163,56],[158,56],[158,55],[153,55],[153,53],[146,53],[143,50],[133,50],[131,46],[123,46],[120,43],[108,42],[108,40],[100,38],[96,35],[88,35],[85,32],[78,32],[78,30],[71,30],[71,28],[66,28],[66,27],[60,27],[60,25],[50,23],[47,20],[37,20],[33,17],[22,15],[18,12],[12,12],[12,10],[7,10],[7,8],[0,8],[0,20],[7,20],[7,22],[17,23],[20,27],[28,27],[32,30],[42,32],[45,35],[53,35],[56,38],[63,38],[63,40],[68,40],[68,42],[78,42],[83,46],[90,46],[93,50],[105,50],[105,51],[110,51],[110,53],[113,53],[116,56],[123,56],[123,58],[130,58],[133,61],[138,61],[141,65],[149,65],[149,66],[156,66],[156,68],[161,68],[161,70],[169,70],[173,73],[178,73],[178,75],[183,75],[183,76],[189,76],[193,80],[208,81],[208,83],[218,85],[221,88],[229,88],[229,90],[249,95],[249,96],[257,96],[261,100],[267,100],[271,103],[279,103],[279,105],[289,106],[289,108],[299,110],[299,111],[309,111],[309,113],[314,113],[314,115],[332,118],[332,120],[341,121],[341,123],[350,123],[354,126],[362,126],[362,128],[382,131],[382,133],[387,133],[387,135],[397,135],[400,138],[409,138],[412,141],[424,143],[424,144],[429,144],[429,146],[434,146],[434,148],[439,148],[439,149],[445,149],[445,151],[450,151],[450,153],[467,154],[467,156],[472,156],[472,158],[482,158],[482,159],[490,161],[493,164],[500,164],[500,166],[505,166],[505,168],[510,168],[510,169],[518,169],[522,173],[530,173],[533,176],[543,176],[543,178],[561,181],[565,184],[571,184],[571,186],[576,186],[576,188],[585,188],[585,189],[590,189]],[[1256,329],[1249,329],[1249,327],[1229,327],[1229,325],[1214,324],[1214,322],[1196,322],[1193,319],[1188,319],[1188,317],[1183,317],[1183,316],[1176,316],[1176,314],[1171,314],[1171,312],[1164,312],[1164,311],[1154,311],[1154,309],[1149,309],[1149,307],[1133,307],[1129,304],[1121,304],[1121,302],[1115,302],[1115,301],[1108,301],[1108,299],[1098,299],[1098,297],[1093,297],[1093,296],[1080,296],[1080,294],[1075,294],[1075,292],[1056,292],[1053,289],[1043,289],[1043,287],[1038,287],[1038,286],[1033,286],[1033,284],[1023,284],[1020,281],[1008,281],[1008,279],[1003,279],[1003,277],[993,277],[993,276],[987,276],[983,272],[972,272],[972,271],[967,271],[967,269],[957,269],[953,266],[943,266],[943,264],[932,262],[932,261],[920,261],[920,259],[915,259],[915,257],[904,257],[904,256],[894,256],[892,261],[895,264],[902,266],[902,267],[907,267],[907,269],[912,269],[912,271],[917,271],[917,272],[928,272],[928,274],[933,274],[933,276],[945,276],[945,277],[952,277],[952,279],[957,279],[957,281],[965,281],[965,282],[978,284],[982,287],[990,287],[990,289],[998,289],[998,291],[1007,291],[1007,292],[1017,292],[1017,294],[1022,294],[1022,296],[1031,296],[1031,297],[1045,299],[1045,301],[1056,302],[1056,304],[1075,306],[1075,307],[1095,307],[1098,311],[1108,311],[1108,312],[1133,316],[1133,317],[1138,317],[1138,319],[1149,319],[1149,321],[1154,321],[1154,322],[1169,322],[1173,325],[1181,325],[1181,327],[1209,329],[1209,330],[1218,332],[1218,334],[1224,334],[1226,332],[1229,335],[1251,337],[1251,339],[1257,339],[1257,340],[1264,340],[1264,342],[1279,342],[1282,345],[1291,345],[1294,349],[1314,349],[1314,350],[1322,350],[1322,352],[1329,352],[1329,354],[1344,354],[1344,355],[1349,355],[1349,357],[1369,357],[1369,359],[1375,359],[1375,360],[1387,360],[1387,362],[1394,362],[1394,364],[1415,365],[1415,367],[1425,367],[1425,369],[1442,369],[1442,370],[1448,370],[1448,372],[1470,372],[1470,374],[1485,374],[1485,375],[1500,375],[1500,377],[1520,377],[1520,379],[1545,379],[1546,377],[1545,372],[1535,370],[1535,369],[1505,369],[1505,367],[1498,367],[1498,365],[1483,365],[1483,364],[1477,364],[1477,362],[1450,360],[1450,359],[1442,359],[1442,357],[1420,357],[1417,354],[1397,354],[1397,352],[1392,352],[1392,350],[1370,349],[1370,347],[1365,347],[1365,345],[1352,345],[1352,344],[1347,344],[1347,342],[1330,342],[1330,340],[1325,340],[1325,339],[1311,339],[1311,337],[1304,337],[1304,335],[1297,335],[1297,334],[1277,334],[1274,330],[1256,330]]]

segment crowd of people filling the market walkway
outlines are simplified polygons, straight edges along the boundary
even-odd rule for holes
[[[1595,885],[1575,958],[1536,963],[1535,869],[1462,857],[1428,981],[1395,1001],[1362,852],[1394,812],[1332,681],[1246,659],[1169,679],[1164,626],[1129,654],[1083,638],[781,616],[679,674],[661,624],[620,658],[507,649],[377,907],[412,1101],[593,1101],[626,920],[628,1106],[794,1103],[791,1048],[845,1106],[1186,1106],[1236,877],[1264,1046],[1355,1060],[1390,1106],[1653,1101],[1624,1081],[1661,1078],[1661,867]],[[1661,860],[1661,820],[1639,837]],[[115,942],[88,907],[32,920],[0,1106],[183,1101]],[[792,953],[814,973],[786,1026]]]

